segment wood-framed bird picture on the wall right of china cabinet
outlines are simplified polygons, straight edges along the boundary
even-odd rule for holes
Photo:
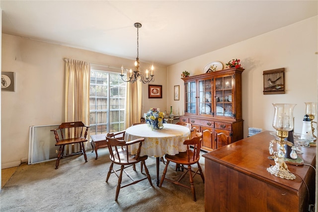
[[[263,94],[285,93],[285,68],[263,71]]]

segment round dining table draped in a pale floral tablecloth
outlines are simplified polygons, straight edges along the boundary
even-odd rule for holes
[[[186,151],[184,140],[190,139],[190,129],[181,125],[163,124],[163,128],[152,130],[147,124],[138,124],[126,129],[125,141],[144,138],[140,155],[156,157],[157,186],[159,186],[159,158],[164,154],[175,155]],[[130,145],[131,154],[136,154],[138,144]]]

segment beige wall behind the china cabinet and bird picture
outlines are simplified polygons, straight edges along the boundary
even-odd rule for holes
[[[249,127],[274,130],[272,103],[297,104],[294,109],[295,132],[301,133],[304,102],[318,101],[318,55],[315,54],[318,52],[317,19],[318,16],[315,16],[169,66],[168,90],[179,84],[181,93],[184,92],[180,79],[182,71],[196,75],[213,61],[220,61],[225,66],[228,61],[238,58],[245,69],[242,73],[244,137],[248,136]],[[236,33],[239,32],[233,32],[233,36]],[[285,68],[286,93],[263,95],[263,71],[279,68]],[[167,97],[167,107],[172,105],[179,114],[184,114],[184,96],[181,94],[180,101],[174,101],[172,93],[168,92]]]

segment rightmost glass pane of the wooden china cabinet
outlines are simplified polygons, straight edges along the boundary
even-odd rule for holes
[[[233,76],[215,78],[215,113],[214,116],[233,118]]]

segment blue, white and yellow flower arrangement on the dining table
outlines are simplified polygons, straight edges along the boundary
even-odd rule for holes
[[[150,110],[144,114],[144,118],[146,124],[152,130],[162,129],[163,123],[165,123],[164,115],[159,111],[159,108],[150,108]]]

